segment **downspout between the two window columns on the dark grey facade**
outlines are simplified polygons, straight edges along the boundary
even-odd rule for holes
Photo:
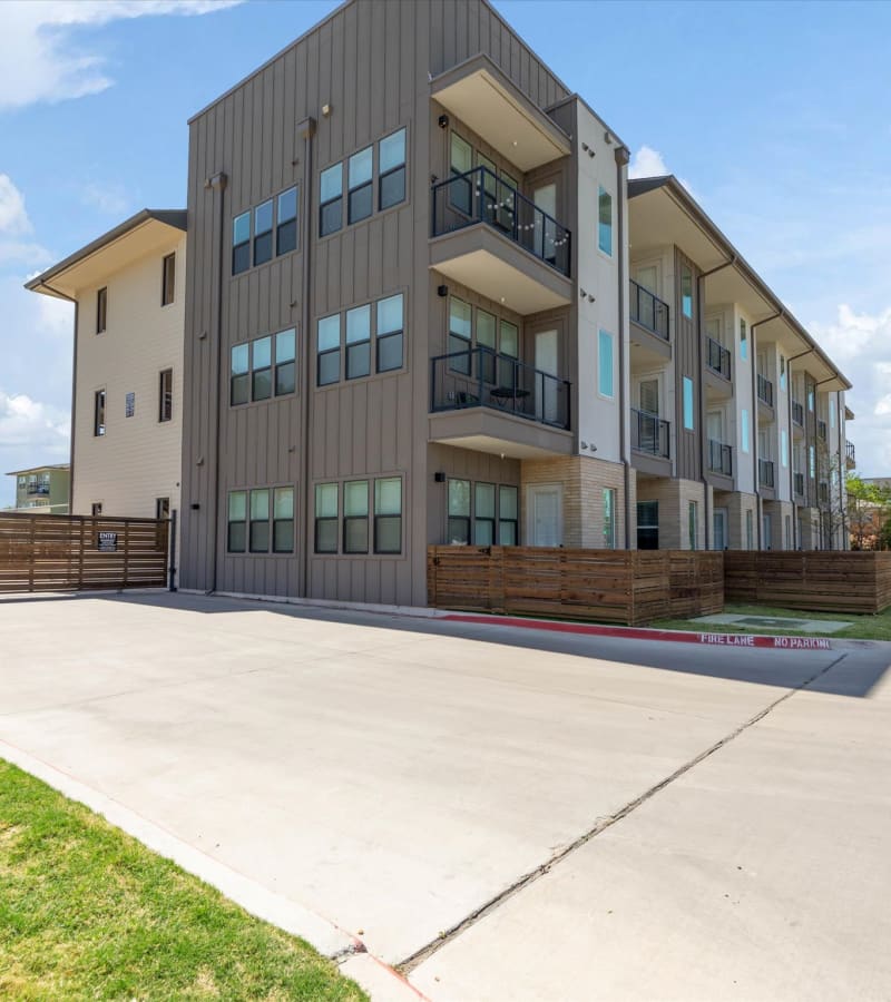
[[[297,593],[306,597],[310,571],[310,421],[312,407],[310,406],[310,361],[312,358],[312,335],[310,331],[311,312],[310,312],[310,242],[313,232],[313,214],[310,210],[312,206],[312,156],[313,156],[313,136],[315,135],[315,119],[304,118],[297,124],[297,136],[303,139],[303,297],[301,303],[302,316],[302,335],[303,335],[303,365],[301,366],[301,424],[302,424],[302,442],[300,458],[300,488],[301,504],[298,508],[300,519],[300,540],[297,547],[298,564],[297,564]]]

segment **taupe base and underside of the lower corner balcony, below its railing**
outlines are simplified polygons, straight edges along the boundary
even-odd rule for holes
[[[430,414],[429,440],[506,459],[552,459],[574,449],[571,432],[491,407]]]

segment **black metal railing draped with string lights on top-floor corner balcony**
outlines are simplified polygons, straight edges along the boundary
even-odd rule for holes
[[[488,167],[433,185],[433,236],[474,223],[488,224],[561,275],[569,275],[569,230]]]

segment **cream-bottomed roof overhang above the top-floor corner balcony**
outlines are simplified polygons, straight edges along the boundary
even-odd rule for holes
[[[482,53],[435,77],[430,96],[523,173],[572,151],[566,132]]]

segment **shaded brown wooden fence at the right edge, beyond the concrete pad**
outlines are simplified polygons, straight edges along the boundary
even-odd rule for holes
[[[881,612],[891,606],[891,553],[727,550],[724,596],[815,612]]]

